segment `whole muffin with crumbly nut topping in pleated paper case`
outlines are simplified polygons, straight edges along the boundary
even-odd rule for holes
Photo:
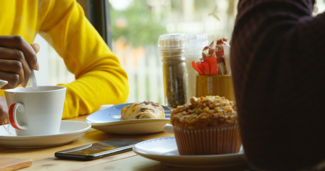
[[[192,97],[171,111],[181,155],[238,153],[241,146],[235,103],[225,97]]]

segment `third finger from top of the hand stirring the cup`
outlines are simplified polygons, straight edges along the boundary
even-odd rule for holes
[[[19,80],[16,84],[17,86],[24,81],[24,70],[20,61],[0,59],[0,70],[18,74]]]

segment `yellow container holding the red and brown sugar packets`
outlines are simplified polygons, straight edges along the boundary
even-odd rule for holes
[[[235,101],[231,75],[198,75],[196,97],[202,96],[220,96]]]

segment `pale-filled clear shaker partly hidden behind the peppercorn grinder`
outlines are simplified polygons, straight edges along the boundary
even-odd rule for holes
[[[188,72],[188,99],[196,96],[196,76],[198,72],[192,68],[192,61],[199,62],[202,50],[209,45],[207,34],[186,35],[186,67]]]

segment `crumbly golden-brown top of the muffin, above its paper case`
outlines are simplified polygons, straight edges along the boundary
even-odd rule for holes
[[[190,105],[178,106],[171,112],[174,126],[193,130],[238,124],[235,103],[225,97],[192,97],[190,102]]]

